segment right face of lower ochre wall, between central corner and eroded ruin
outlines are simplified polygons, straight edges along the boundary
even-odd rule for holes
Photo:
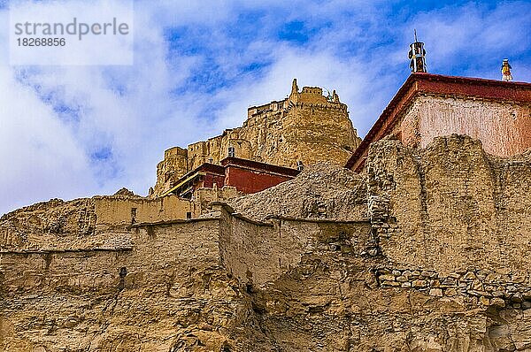
[[[369,224],[363,221],[269,218],[261,223],[226,210],[221,217],[219,245],[223,263],[242,282],[258,287],[279,279],[314,247],[341,251],[339,241],[355,238],[365,245],[364,237],[369,234]]]

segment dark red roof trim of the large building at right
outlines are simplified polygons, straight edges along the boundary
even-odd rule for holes
[[[399,113],[421,93],[528,103],[531,102],[531,83],[412,73],[350,156],[345,167],[360,172],[365,165],[364,157],[370,144],[388,134],[396,125]]]

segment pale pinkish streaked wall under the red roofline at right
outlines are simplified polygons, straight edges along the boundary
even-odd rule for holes
[[[461,96],[418,96],[401,118],[402,141],[426,148],[436,136],[467,134],[486,152],[512,156],[531,147],[531,104]]]

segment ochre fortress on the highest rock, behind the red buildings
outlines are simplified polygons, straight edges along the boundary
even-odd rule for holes
[[[152,195],[161,195],[199,165],[218,164],[229,149],[234,150],[235,157],[295,168],[297,162],[344,165],[360,142],[347,105],[339,101],[335,91],[332,96],[323,96],[317,87],[299,91],[293,80],[289,97],[250,107],[243,126],[190,144],[188,149],[167,149],[157,165]]]

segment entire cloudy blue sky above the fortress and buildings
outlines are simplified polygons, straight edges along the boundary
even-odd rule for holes
[[[8,11],[0,0],[0,23]],[[165,149],[240,126],[293,78],[336,89],[363,136],[409,75],[413,28],[430,73],[497,80],[508,57],[531,81],[529,13],[528,1],[135,2],[135,65],[0,57],[0,213],[120,187],[145,195]]]

